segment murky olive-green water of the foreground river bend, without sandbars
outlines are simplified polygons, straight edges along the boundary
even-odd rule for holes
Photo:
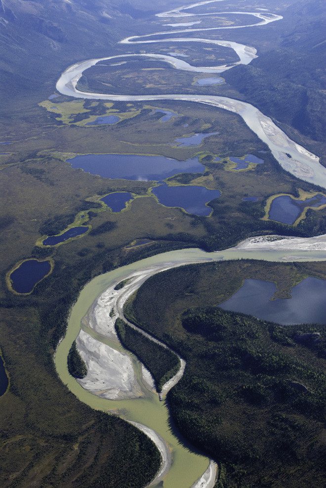
[[[73,306],[65,337],[58,345],[54,356],[57,373],[62,382],[78,399],[91,408],[105,412],[115,411],[122,418],[140,422],[155,430],[169,445],[172,454],[172,465],[163,480],[164,488],[189,488],[195,483],[208,467],[209,459],[203,455],[190,451],[180,443],[178,438],[168,427],[169,412],[164,401],[160,401],[157,394],[147,393],[146,398],[109,400],[99,398],[84,390],[75,378],[70,376],[67,369],[67,356],[73,341],[81,329],[82,317],[90,306],[109,286],[118,283],[130,273],[141,271],[151,266],[180,266],[182,264],[200,263],[207,261],[234,260],[234,259],[260,259],[266,261],[291,261],[291,257],[299,256],[297,261],[321,261],[326,259],[322,251],[253,251],[253,250],[226,250],[207,253],[200,249],[184,249],[158,254],[143,259],[128,266],[122,266],[108,273],[97,276],[87,283]],[[285,258],[285,259],[284,259]],[[85,329],[85,327],[83,327]],[[96,339],[118,349],[117,344],[111,344],[99,334],[85,329]],[[121,350],[123,348],[121,347]],[[129,354],[129,353],[128,353]],[[140,374],[140,363],[133,357],[135,370]],[[162,483],[162,482],[161,482]],[[160,485],[162,486],[162,485]]]

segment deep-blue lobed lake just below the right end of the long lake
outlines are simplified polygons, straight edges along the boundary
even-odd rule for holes
[[[205,204],[221,195],[219,190],[207,190],[204,186],[156,186],[152,189],[159,202],[166,207],[180,207],[189,214],[207,216],[211,209]]]

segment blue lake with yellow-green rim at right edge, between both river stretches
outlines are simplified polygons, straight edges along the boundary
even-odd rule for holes
[[[307,200],[294,200],[288,195],[281,195],[272,201],[268,218],[291,225],[305,207],[320,207],[321,205],[326,205],[326,197],[321,193]]]

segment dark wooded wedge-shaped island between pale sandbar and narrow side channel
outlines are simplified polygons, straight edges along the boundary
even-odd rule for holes
[[[123,346],[135,354],[151,372],[157,391],[172,378],[180,368],[178,356],[160,344],[151,341],[141,332],[130,327],[121,318],[116,320],[116,331]]]

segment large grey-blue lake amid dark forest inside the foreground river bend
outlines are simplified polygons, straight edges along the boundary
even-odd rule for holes
[[[275,291],[275,283],[246,279],[219,307],[280,324],[326,323],[326,280],[306,278],[293,287],[292,298],[285,300],[270,300]]]

